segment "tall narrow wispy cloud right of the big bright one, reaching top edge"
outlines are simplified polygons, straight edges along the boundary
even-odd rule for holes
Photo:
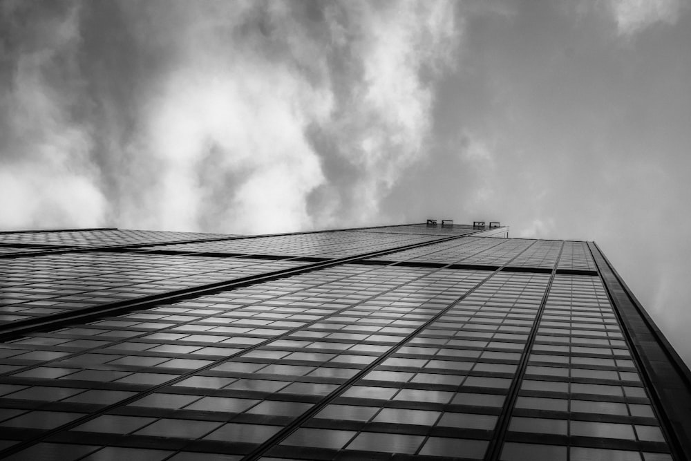
[[[359,3],[345,13],[341,28],[360,33],[336,50],[346,63],[345,75],[336,76],[343,90],[320,134],[354,177],[317,193],[332,189],[332,196],[340,196],[340,207],[319,210],[322,219],[333,223],[345,214],[352,223],[365,223],[376,219],[379,199],[401,171],[427,154],[432,83],[451,64],[460,30],[448,3]]]

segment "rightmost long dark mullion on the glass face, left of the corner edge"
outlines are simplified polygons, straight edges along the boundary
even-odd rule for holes
[[[494,429],[494,437],[490,440],[489,446],[484,455],[485,461],[497,461],[501,455],[502,446],[504,445],[504,440],[506,439],[507,430],[509,428],[509,420],[511,420],[511,413],[513,413],[513,407],[515,406],[516,399],[518,399],[520,384],[523,382],[523,377],[528,366],[528,356],[533,348],[533,344],[535,343],[535,337],[538,334],[540,319],[542,319],[542,312],[545,312],[545,305],[547,304],[547,298],[549,297],[549,292],[552,288],[554,276],[556,276],[562,250],[564,250],[564,242],[562,242],[562,245],[559,248],[559,254],[557,255],[556,261],[554,261],[552,272],[549,276],[549,281],[547,281],[547,286],[545,287],[545,294],[542,295],[542,301],[540,301],[540,307],[538,308],[538,312],[533,322],[533,327],[531,328],[530,334],[528,335],[528,340],[523,348],[523,353],[521,355],[520,362],[518,363],[516,373],[513,377],[513,382],[511,382],[511,386],[509,387],[507,400],[504,402],[502,413],[497,420],[497,425]]]

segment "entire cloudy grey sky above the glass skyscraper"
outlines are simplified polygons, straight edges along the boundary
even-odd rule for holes
[[[691,363],[685,0],[0,1],[0,228],[499,220]]]

